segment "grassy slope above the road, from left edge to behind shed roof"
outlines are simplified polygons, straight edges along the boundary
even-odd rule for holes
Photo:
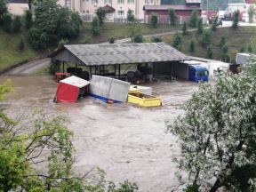
[[[127,23],[105,23],[101,28],[99,36],[92,36],[91,23],[84,23],[81,28],[80,35],[70,41],[69,44],[99,44],[108,42],[111,36],[115,39],[129,37],[132,34],[132,24]],[[149,25],[140,24],[141,32],[146,34],[162,33],[167,31],[180,30],[180,26],[171,27],[169,25],[159,25],[158,28],[151,28]],[[20,38],[24,36],[25,48],[19,50]],[[36,52],[28,44],[28,31],[22,30],[19,34],[7,34],[0,29],[0,71],[4,68],[11,67],[24,60],[41,57],[51,52]]]

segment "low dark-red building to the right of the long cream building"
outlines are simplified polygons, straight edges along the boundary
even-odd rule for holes
[[[184,0],[185,4],[163,4],[163,5],[145,5],[144,19],[146,23],[150,22],[151,14],[156,12],[159,17],[159,23],[169,24],[169,10],[175,10],[178,22],[182,23],[188,20],[191,13],[196,10],[198,17],[202,15],[201,0]]]

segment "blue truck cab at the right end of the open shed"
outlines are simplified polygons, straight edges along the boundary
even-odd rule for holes
[[[193,82],[205,81],[208,82],[208,69],[201,65],[189,65],[188,80]]]

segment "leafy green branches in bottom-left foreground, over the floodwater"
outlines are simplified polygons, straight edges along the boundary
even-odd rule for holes
[[[0,85],[0,100],[11,91],[10,81]],[[84,176],[73,172],[73,133],[64,124],[64,116],[50,117],[39,110],[22,121],[13,120],[0,110],[0,191],[138,191],[137,185],[128,180],[119,187],[113,182],[106,186],[105,172],[100,169],[100,178],[92,182],[86,180],[90,172]]]

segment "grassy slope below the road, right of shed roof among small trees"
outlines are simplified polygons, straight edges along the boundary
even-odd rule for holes
[[[252,37],[256,36],[255,27],[239,27],[236,30],[231,28],[218,28],[216,32],[212,34],[212,51],[213,59],[220,60],[222,51],[220,49],[220,36],[226,36],[226,44],[228,46],[228,55],[232,61],[236,60],[236,53],[241,52],[243,48],[246,48],[252,41]],[[196,34],[196,32],[190,32],[188,35],[183,36],[181,44],[181,52],[196,57],[206,57],[206,48],[201,43],[202,36]],[[167,44],[172,44],[172,36],[163,36],[163,40]],[[195,52],[189,52],[189,44],[191,39],[196,40]]]

